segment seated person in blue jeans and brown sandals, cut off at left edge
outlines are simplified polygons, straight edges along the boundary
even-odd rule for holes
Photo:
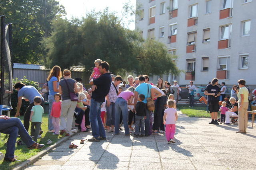
[[[15,144],[18,135],[20,135],[28,149],[40,149],[44,147],[44,144],[33,141],[20,119],[16,117],[10,118],[5,115],[0,115],[0,133],[9,134],[6,154],[4,156],[4,161],[7,162],[20,161],[14,158]]]

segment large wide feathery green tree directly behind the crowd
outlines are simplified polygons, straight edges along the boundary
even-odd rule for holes
[[[130,10],[126,6],[124,13],[129,14]],[[122,18],[108,12],[108,8],[91,12],[82,20],[54,21],[52,36],[42,41],[47,51],[47,66],[69,68],[81,64],[92,70],[94,60],[102,59],[110,64],[110,72],[114,74],[180,73],[165,45],[154,40],[144,42],[140,33],[126,29],[121,23]]]

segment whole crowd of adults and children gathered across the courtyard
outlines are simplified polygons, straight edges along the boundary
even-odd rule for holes
[[[72,127],[78,126],[85,132],[91,129],[93,137],[88,141],[96,142],[106,140],[106,132],[119,135],[123,130],[123,124],[126,136],[134,133],[134,137],[148,137],[152,134],[165,133],[168,143],[175,143],[175,124],[178,119],[176,104],[181,90],[177,81],[171,85],[170,82],[159,78],[154,85],[147,75],[135,78],[129,75],[126,84],[121,76],[110,74],[109,64],[100,59],[95,61],[95,68],[89,81],[91,88],[88,91],[84,89],[81,78],[72,79],[70,70],[61,72],[59,66],[54,66],[50,70],[47,80],[50,105],[48,131],[53,135],[70,136],[74,132]],[[121,82],[123,84],[120,85]],[[204,94],[207,96],[212,118],[210,124],[219,124],[217,115],[220,111],[221,123],[230,124],[230,117],[238,117],[237,133],[246,133],[248,89],[245,87],[245,80],[239,80],[238,84],[239,88],[234,86],[231,91],[231,109],[226,107],[227,102],[222,102],[222,107],[219,107],[218,96],[222,96],[224,100],[226,86],[222,83],[220,88],[217,78],[206,86]],[[190,81],[186,88],[189,89],[190,107],[193,107],[196,87]],[[41,124],[44,98],[36,88],[26,86],[22,82],[17,82],[14,89],[18,91],[15,117],[20,116],[22,99],[30,104],[24,114],[23,125],[18,118],[0,116],[0,132],[10,134],[5,155],[7,161],[17,161],[14,158],[14,149],[18,134],[28,148],[44,147],[37,143],[38,137],[43,133]],[[135,125],[135,129],[132,125]]]

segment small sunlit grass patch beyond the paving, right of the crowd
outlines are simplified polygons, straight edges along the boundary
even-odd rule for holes
[[[211,117],[210,113],[207,113],[206,111],[206,105],[194,105],[194,107],[191,108],[186,104],[178,104],[177,108],[180,109],[183,114],[186,114],[189,117]]]

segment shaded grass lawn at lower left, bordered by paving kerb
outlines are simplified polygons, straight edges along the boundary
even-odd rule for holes
[[[23,123],[23,116],[20,117]],[[30,124],[31,125],[31,124]],[[43,123],[41,125],[42,131],[44,133],[42,134],[42,139],[38,139],[38,143],[44,144],[45,147],[42,149],[27,149],[26,145],[22,146],[17,146],[14,154],[18,156],[17,159],[21,160],[20,162],[3,162],[3,160],[0,161],[0,170],[9,170],[14,168],[14,166],[17,166],[21,162],[24,162],[28,158],[36,155],[38,152],[40,152],[43,149],[46,149],[48,146],[47,145],[47,140],[50,139],[52,141],[52,144],[56,143],[62,136],[57,136],[57,135],[52,135],[52,133],[48,132],[48,114],[43,114]],[[29,134],[30,134],[30,128],[29,128]],[[6,145],[4,145],[8,140],[8,135],[1,133],[0,137],[0,152],[6,153]],[[17,141],[21,141],[20,138],[17,138]]]

